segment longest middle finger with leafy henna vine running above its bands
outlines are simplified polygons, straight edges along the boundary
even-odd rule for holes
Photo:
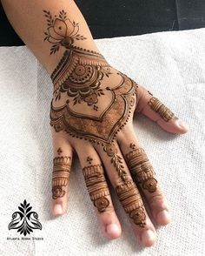
[[[116,190],[125,212],[129,213],[129,220],[136,237],[142,246],[152,246],[155,243],[155,227],[144,208],[140,192],[131,178],[128,166],[117,143],[102,147],[96,145],[109,180]]]

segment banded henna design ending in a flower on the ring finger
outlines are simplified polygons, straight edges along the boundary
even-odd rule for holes
[[[107,185],[102,165],[89,165],[83,168],[83,176],[88,188],[89,197],[98,212],[105,212],[109,206],[109,187]]]

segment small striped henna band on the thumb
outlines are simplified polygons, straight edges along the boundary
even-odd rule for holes
[[[149,106],[150,108],[158,113],[166,122],[169,122],[171,118],[174,117],[174,113],[169,110],[158,98],[152,97],[149,99]]]

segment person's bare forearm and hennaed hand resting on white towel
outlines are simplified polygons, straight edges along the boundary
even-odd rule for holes
[[[142,85],[107,63],[74,1],[2,3],[13,28],[54,84],[50,104],[53,214],[67,210],[70,166],[76,152],[103,234],[116,239],[122,232],[109,179],[139,242],[154,245],[155,226],[141,195],[159,226],[170,222],[169,205],[136,138],[133,116],[141,111],[171,133],[185,133],[187,126]]]

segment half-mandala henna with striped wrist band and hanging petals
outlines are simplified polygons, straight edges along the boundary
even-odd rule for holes
[[[101,80],[111,74],[109,64],[101,54],[73,47],[65,51],[56,70],[51,74],[56,100],[66,92],[73,104],[82,101],[97,111],[98,98],[104,95]]]

